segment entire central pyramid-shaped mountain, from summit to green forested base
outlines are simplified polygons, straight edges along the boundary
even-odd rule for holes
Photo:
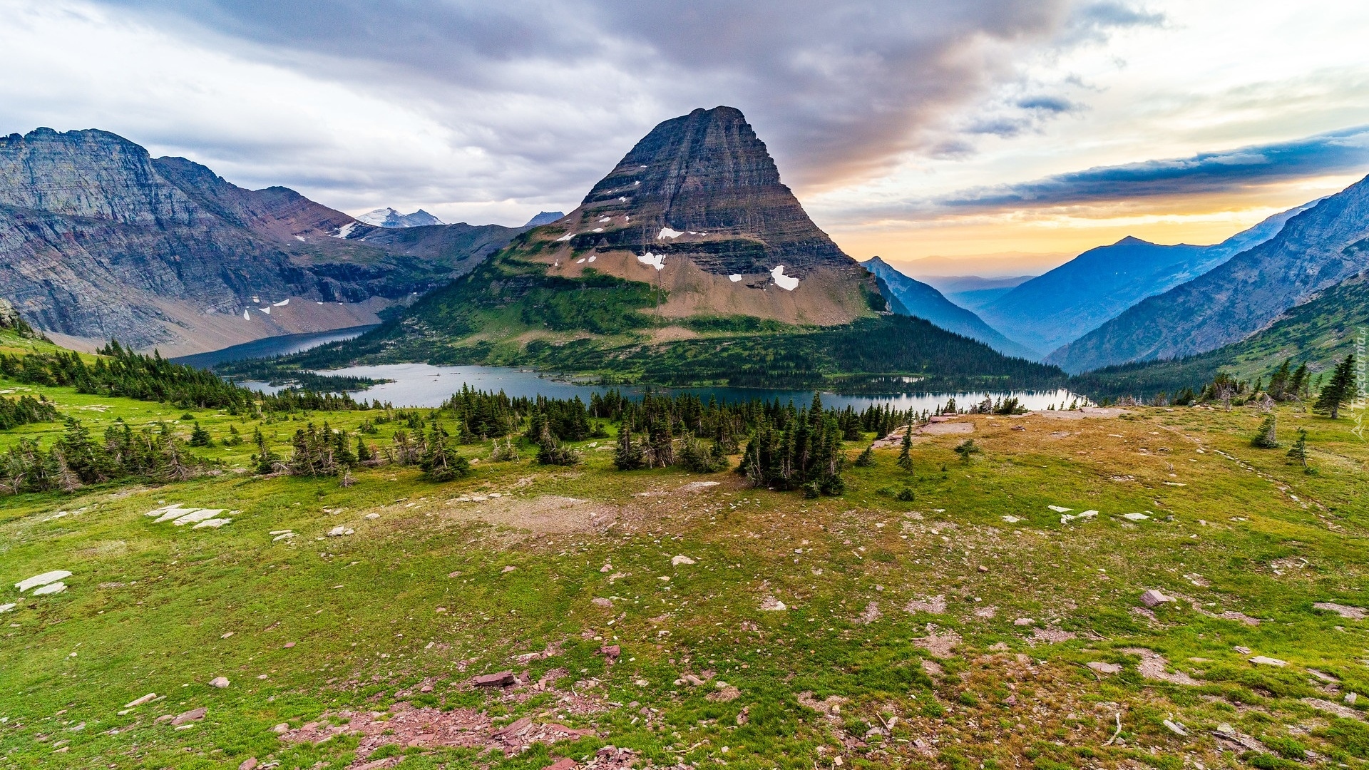
[[[531,364],[663,384],[1058,382],[886,311],[731,107],[665,121],[575,211],[357,340],[293,359]]]

